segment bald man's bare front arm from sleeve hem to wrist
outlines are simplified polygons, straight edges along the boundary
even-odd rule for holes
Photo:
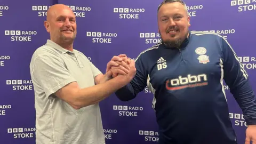
[[[69,103],[74,109],[90,106],[107,98],[110,94],[123,87],[126,82],[122,77],[115,77],[105,83],[80,89],[76,82],[67,84],[55,95]]]

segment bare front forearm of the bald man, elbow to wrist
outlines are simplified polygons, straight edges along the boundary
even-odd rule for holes
[[[90,106],[102,101],[116,90],[120,89],[124,84],[116,78],[110,79],[105,83],[100,83],[84,89],[79,89],[75,92],[74,108]]]

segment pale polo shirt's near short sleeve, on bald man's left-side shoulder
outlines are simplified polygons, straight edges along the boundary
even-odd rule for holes
[[[71,76],[64,62],[54,54],[43,54],[33,60],[31,77],[41,85],[46,97],[55,93],[63,86],[76,82]]]

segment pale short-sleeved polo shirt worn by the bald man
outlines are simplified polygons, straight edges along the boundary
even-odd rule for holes
[[[101,74],[77,50],[63,49],[47,40],[33,54],[30,74],[35,91],[36,144],[105,144],[99,104],[74,109],[54,92],[70,82],[94,85]]]

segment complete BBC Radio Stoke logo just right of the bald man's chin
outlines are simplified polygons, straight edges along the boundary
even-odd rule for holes
[[[92,43],[112,43],[112,38],[117,37],[116,33],[102,33],[87,31],[87,37],[92,37]]]

